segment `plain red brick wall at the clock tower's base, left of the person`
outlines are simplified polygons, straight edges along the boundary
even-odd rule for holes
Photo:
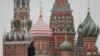
[[[22,55],[27,56],[27,47],[29,44],[4,44],[3,56]]]

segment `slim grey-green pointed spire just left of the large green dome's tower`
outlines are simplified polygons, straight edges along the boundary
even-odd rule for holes
[[[84,45],[82,39],[82,26],[80,25],[78,28],[78,38],[75,46],[75,52],[73,56],[86,56],[84,52]]]

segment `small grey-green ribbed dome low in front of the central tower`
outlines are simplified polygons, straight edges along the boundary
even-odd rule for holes
[[[63,43],[60,44],[60,50],[61,51],[71,51],[72,50],[71,43],[65,40]]]

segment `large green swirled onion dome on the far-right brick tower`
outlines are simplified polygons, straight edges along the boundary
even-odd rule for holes
[[[99,34],[99,26],[94,23],[91,18],[90,12],[88,12],[86,19],[82,24],[80,24],[83,29],[83,36],[95,36]]]

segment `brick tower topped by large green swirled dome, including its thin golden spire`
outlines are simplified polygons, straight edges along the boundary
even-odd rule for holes
[[[80,24],[83,29],[83,42],[86,55],[96,55],[97,47],[95,46],[98,34],[99,26],[95,24],[90,14],[89,0],[88,0],[88,12],[85,20]]]

